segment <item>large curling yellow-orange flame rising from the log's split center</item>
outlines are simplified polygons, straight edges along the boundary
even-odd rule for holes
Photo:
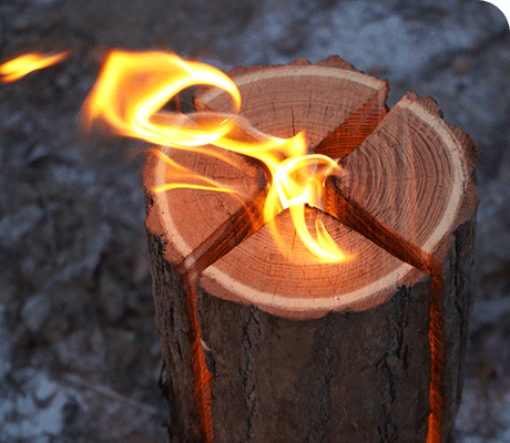
[[[232,97],[232,113],[162,111],[171,99],[194,85],[226,91]],[[347,260],[349,256],[338,248],[320,219],[316,219],[315,233],[305,223],[305,205],[320,208],[325,179],[329,175],[341,177],[341,168],[325,155],[309,154],[303,132],[290,138],[263,134],[236,115],[239,109],[237,86],[213,66],[163,52],[113,51],[84,103],[83,113],[89,127],[100,120],[120,135],[156,145],[206,153],[232,162],[222,155],[222,150],[207,147],[214,145],[263,162],[271,173],[264,219],[276,241],[280,244],[282,240],[274,217],[288,208],[300,240],[317,260]],[[167,163],[173,181],[155,192],[193,187],[238,194],[236,189],[184,168],[161,152],[157,155]],[[176,178],[181,181],[174,183]]]

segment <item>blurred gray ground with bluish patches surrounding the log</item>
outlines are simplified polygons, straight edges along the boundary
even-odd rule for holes
[[[0,0],[0,442],[164,442],[140,143],[76,115],[104,50],[222,69],[339,54],[432,95],[480,147],[476,302],[459,442],[510,442],[510,35],[480,0]]]

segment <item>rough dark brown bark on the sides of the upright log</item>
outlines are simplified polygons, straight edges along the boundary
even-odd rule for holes
[[[471,309],[473,224],[448,249],[445,442],[453,441]],[[151,256],[163,244],[150,236]],[[200,442],[180,276],[153,259],[157,329],[169,382],[172,441]],[[365,311],[292,320],[200,288],[213,374],[215,442],[425,442],[429,413],[430,277]]]

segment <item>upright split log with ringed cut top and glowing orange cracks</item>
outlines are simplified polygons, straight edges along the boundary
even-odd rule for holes
[[[471,309],[469,137],[431,99],[408,93],[388,111],[387,83],[339,58],[230,74],[255,128],[306,130],[310,152],[340,158],[345,177],[329,179],[323,207],[306,215],[354,258],[314,260],[288,210],[276,217],[287,245],[278,250],[261,215],[267,179],[257,164],[162,148],[242,189],[243,206],[225,193],[154,193],[172,178],[150,154],[146,229],[171,441],[452,441]],[[228,112],[230,100],[207,90],[196,107]]]

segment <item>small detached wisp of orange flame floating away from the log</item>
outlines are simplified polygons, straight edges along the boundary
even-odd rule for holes
[[[0,65],[0,83],[16,82],[33,71],[51,66],[70,55],[71,51],[58,54],[29,53],[20,55]]]

